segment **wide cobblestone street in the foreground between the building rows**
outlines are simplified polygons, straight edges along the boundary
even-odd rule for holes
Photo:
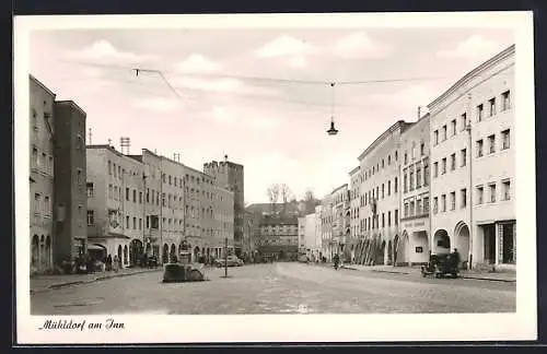
[[[31,296],[32,315],[416,314],[515,310],[515,284],[274,263],[208,271],[209,281],[161,282],[161,272]]]

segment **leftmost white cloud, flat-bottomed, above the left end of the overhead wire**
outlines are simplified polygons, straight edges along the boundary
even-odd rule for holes
[[[105,39],[95,40],[91,46],[82,50],[71,51],[71,57],[86,61],[113,61],[117,64],[137,63],[156,60],[156,56],[137,55],[129,51],[120,51]]]

